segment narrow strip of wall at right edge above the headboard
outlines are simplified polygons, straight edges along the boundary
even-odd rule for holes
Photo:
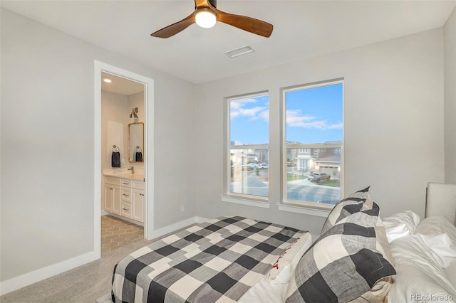
[[[445,182],[456,183],[456,9],[444,27],[445,37]]]

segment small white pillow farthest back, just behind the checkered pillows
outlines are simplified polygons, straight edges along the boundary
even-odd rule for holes
[[[402,211],[382,220],[383,225],[385,225],[386,238],[391,243],[391,241],[405,235],[413,235],[415,228],[420,223],[420,216],[413,211]]]

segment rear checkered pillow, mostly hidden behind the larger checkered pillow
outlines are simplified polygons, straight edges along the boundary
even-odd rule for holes
[[[370,186],[369,186],[370,187]],[[338,221],[350,216],[353,213],[358,211],[366,211],[373,207],[373,198],[369,193],[369,187],[361,189],[361,191],[356,191],[352,193],[347,198],[339,201],[336,206],[329,213],[328,218],[326,218],[323,228],[321,229],[321,235],[326,233],[329,228],[333,227],[334,224]]]

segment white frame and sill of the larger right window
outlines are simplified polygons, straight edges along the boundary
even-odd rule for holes
[[[342,85],[342,140],[341,144],[286,144],[286,93],[293,92],[297,90],[306,90],[316,87],[323,87],[329,85]],[[279,204],[279,210],[281,211],[290,211],[294,213],[306,213],[314,216],[327,216],[328,212],[334,207],[332,204],[326,203],[316,203],[311,201],[300,201],[300,200],[291,200],[287,198],[288,193],[288,172],[287,172],[287,150],[288,149],[326,149],[326,148],[336,148],[340,149],[341,154],[341,171],[340,171],[340,198],[343,197],[343,183],[344,183],[344,157],[343,157],[343,145],[344,145],[344,129],[345,129],[345,122],[344,122],[344,90],[345,84],[343,78],[338,78],[334,80],[326,80],[320,81],[317,83],[309,83],[304,85],[294,85],[291,87],[283,87],[281,88],[281,204]]]

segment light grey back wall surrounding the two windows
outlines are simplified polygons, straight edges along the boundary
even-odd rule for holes
[[[345,78],[345,194],[371,186],[381,214],[423,215],[428,181],[444,179],[442,28],[323,55],[197,87],[197,214],[238,214],[319,234],[324,218],[278,211],[280,132],[270,128],[271,208],[220,201],[223,98],[269,90],[279,124],[280,87]],[[275,183],[274,183],[275,182]]]

